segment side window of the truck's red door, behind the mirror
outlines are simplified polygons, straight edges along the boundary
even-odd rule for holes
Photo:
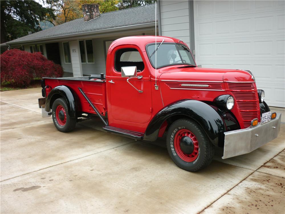
[[[143,59],[137,49],[120,49],[115,54],[115,70],[121,72],[121,67],[137,66],[138,72],[144,69]]]

